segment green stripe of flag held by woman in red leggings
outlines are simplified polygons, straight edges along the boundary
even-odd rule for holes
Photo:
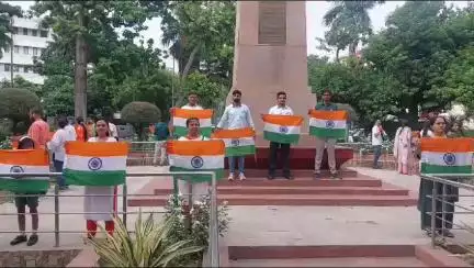
[[[125,170],[116,171],[78,171],[63,170],[66,185],[70,186],[119,186],[125,183]]]

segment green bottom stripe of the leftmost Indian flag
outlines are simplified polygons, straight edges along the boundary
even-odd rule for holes
[[[0,178],[0,189],[13,193],[43,193],[49,189],[49,181],[45,179]]]

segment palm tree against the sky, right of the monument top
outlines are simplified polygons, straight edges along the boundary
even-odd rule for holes
[[[331,2],[334,7],[324,16],[324,24],[330,27],[325,34],[327,43],[338,52],[349,46],[349,55],[354,56],[359,42],[366,42],[372,34],[369,10],[385,1]]]

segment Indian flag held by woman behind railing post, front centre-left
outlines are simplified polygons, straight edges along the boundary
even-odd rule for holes
[[[170,171],[214,171],[224,177],[225,144],[223,141],[171,141],[167,144]],[[208,181],[210,176],[177,176],[193,182]]]

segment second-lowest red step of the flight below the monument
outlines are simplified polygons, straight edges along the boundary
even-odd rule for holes
[[[155,189],[155,194],[171,194],[172,189]],[[218,194],[356,194],[356,196],[407,196],[408,190],[377,187],[294,187],[294,186],[218,186]]]

